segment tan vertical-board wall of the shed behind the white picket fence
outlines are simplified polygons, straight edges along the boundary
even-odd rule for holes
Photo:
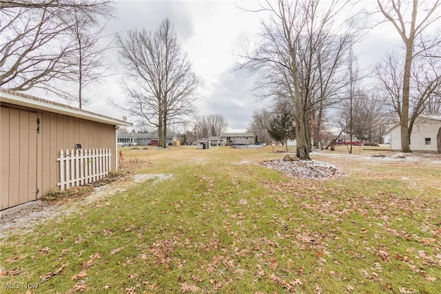
[[[37,118],[40,121],[39,133]],[[57,188],[60,150],[74,149],[76,143],[80,143],[83,149],[110,148],[111,169],[115,169],[116,132],[113,125],[2,105],[0,209],[32,201],[51,188]],[[23,193],[20,196],[19,190],[24,189],[20,188],[24,182],[30,186],[36,184],[37,195],[34,193],[26,199]]]

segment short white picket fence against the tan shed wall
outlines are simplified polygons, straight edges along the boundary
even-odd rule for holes
[[[61,190],[103,179],[110,170],[110,148],[60,151]]]

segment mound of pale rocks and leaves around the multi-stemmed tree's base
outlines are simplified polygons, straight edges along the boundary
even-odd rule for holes
[[[315,160],[284,161],[278,159],[262,161],[260,164],[301,179],[331,179],[345,175],[335,166]]]

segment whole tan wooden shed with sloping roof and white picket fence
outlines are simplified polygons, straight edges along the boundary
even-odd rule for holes
[[[132,126],[0,88],[0,210],[118,169],[116,130]]]

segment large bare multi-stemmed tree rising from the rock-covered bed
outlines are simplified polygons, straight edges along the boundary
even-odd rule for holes
[[[353,43],[347,27],[342,25],[337,28],[334,23],[336,14],[341,12],[345,3],[331,1],[327,8],[322,8],[314,0],[279,0],[277,5],[266,1],[260,10],[269,12],[270,18],[263,23],[260,43],[254,52],[243,55],[245,61],[242,66],[259,71],[263,76],[259,90],[266,90],[267,97],[285,97],[290,101],[299,159],[310,159],[311,117],[316,110],[316,101],[320,104],[320,99],[325,99],[329,90],[319,86],[336,77],[336,68],[341,65],[338,61]],[[331,36],[336,37],[333,39]],[[325,50],[326,46],[332,47],[329,41],[344,43],[345,46],[341,50]],[[321,61],[334,66],[321,80],[318,77],[319,52],[331,55],[326,62],[322,55]],[[321,95],[318,95],[320,90]]]

